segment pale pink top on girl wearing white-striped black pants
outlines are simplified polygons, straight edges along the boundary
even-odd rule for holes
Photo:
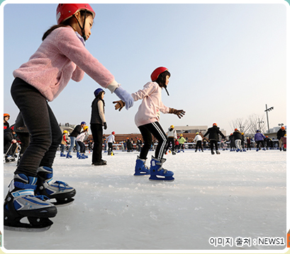
[[[147,125],[151,122],[159,122],[160,111],[169,113],[169,108],[162,103],[162,88],[156,82],[148,82],[143,90],[132,93],[134,101],[143,100],[135,115],[135,125]]]

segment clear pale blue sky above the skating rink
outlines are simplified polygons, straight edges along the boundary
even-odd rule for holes
[[[235,1],[231,1],[235,3]],[[91,4],[96,12],[87,49],[133,93],[150,81],[156,67],[172,74],[164,105],[186,115],[161,115],[170,125],[208,125],[216,122],[227,134],[230,122],[269,112],[269,127],[286,125],[286,7],[274,4]],[[18,108],[10,87],[12,72],[38,49],[41,37],[56,24],[57,4],[4,6],[4,112],[13,124]],[[3,8],[3,7],[1,7]],[[288,68],[289,69],[289,68]],[[4,83],[2,83],[4,81]],[[57,120],[89,123],[94,90],[100,86],[87,74],[69,81],[50,106]],[[115,94],[106,90],[105,134],[139,133],[130,110],[114,110]]]

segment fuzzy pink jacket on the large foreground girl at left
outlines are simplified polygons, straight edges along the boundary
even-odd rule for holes
[[[112,93],[119,86],[110,71],[89,53],[74,30],[67,26],[53,30],[29,61],[13,71],[13,76],[34,86],[52,101],[70,79],[81,81],[84,72]]]

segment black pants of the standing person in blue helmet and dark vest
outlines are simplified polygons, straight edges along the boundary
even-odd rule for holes
[[[101,151],[103,142],[103,126],[99,124],[91,124],[91,134],[94,139],[92,163],[101,162]]]

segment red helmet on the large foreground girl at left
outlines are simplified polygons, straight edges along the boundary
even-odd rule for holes
[[[67,18],[72,17],[77,11],[87,10],[93,18],[96,16],[93,8],[89,4],[58,4],[57,6],[57,25],[60,25]]]

